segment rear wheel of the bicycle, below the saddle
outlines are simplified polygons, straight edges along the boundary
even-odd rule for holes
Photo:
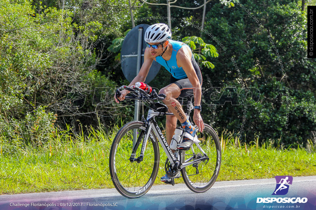
[[[221,147],[218,136],[214,129],[204,124],[204,131],[199,132],[197,126],[197,137],[200,147],[204,150],[209,160],[200,161],[183,167],[181,174],[186,186],[193,192],[205,192],[211,188],[217,179],[221,167]],[[201,158],[203,153],[196,144],[190,150],[182,151],[182,163]]]

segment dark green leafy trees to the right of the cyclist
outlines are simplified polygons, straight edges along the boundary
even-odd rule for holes
[[[246,87],[260,91],[258,103],[247,110],[247,140],[260,132],[263,139],[282,136],[287,145],[306,143],[316,125],[315,60],[307,59],[306,13],[293,1],[240,3],[258,22],[239,5],[229,9],[214,5],[207,14],[206,29],[214,31],[228,49],[214,61],[222,71],[216,71],[212,81],[217,87],[243,88],[231,61],[234,58]],[[242,107],[225,104],[218,108],[215,124],[238,132]]]

